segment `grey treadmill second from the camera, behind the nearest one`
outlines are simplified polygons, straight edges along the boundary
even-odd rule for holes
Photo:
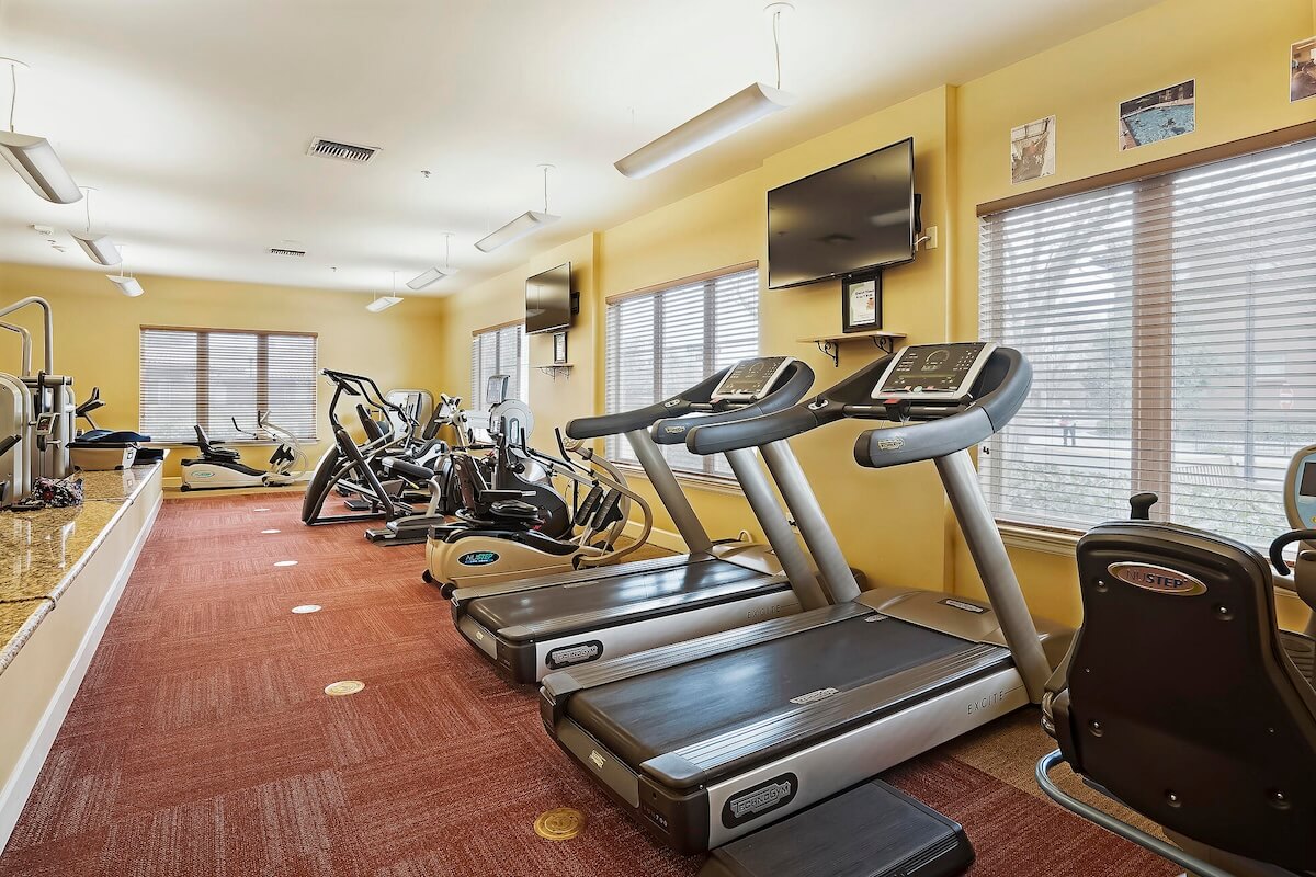
[[[512,681],[533,684],[567,667],[825,606],[828,593],[753,450],[732,448],[726,458],[770,547],[713,543],[658,450],[662,443],[684,443],[697,423],[729,425],[787,410],[812,383],[813,371],[804,363],[761,356],[665,401],[567,423],[572,439],[626,437],[690,554],[458,588],[451,592],[458,631]],[[658,421],[661,429],[650,433]],[[800,472],[786,442],[767,443],[763,454],[775,465]],[[844,560],[840,565],[853,582]]]

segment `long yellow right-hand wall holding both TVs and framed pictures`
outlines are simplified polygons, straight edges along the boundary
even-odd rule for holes
[[[591,284],[578,283],[591,313],[572,329],[571,359],[578,367],[570,391],[545,380],[532,387],[540,422],[561,423],[588,412],[582,385],[592,391],[592,410],[603,410],[605,296],[753,259],[766,264],[767,189],[907,135],[916,142],[924,224],[938,226],[941,246],[887,272],[886,327],[905,333],[909,343],[975,337],[979,202],[1311,120],[1316,101],[1287,101],[1287,59],[1291,42],[1316,33],[1313,7],[1311,0],[1167,0],[1011,67],[867,116],[769,156],[761,167],[705,192],[599,231],[592,238]],[[1198,80],[1198,133],[1119,153],[1119,103],[1188,78]],[[1057,176],[1012,187],[1011,128],[1053,113]],[[522,270],[472,288],[450,305],[446,384],[470,383],[471,327],[516,318],[524,279],[561,262],[574,246],[536,255]],[[762,350],[805,360],[817,372],[819,387],[869,362],[876,351],[851,343],[836,369],[812,346],[796,342],[840,327],[838,298],[836,283],[763,289]],[[490,316],[478,318],[472,312]],[[580,356],[587,344],[592,364]],[[940,582],[980,593],[930,464],[861,471],[849,452],[859,429],[836,425],[794,442],[851,563],[884,582]],[[690,493],[712,535],[734,535],[742,527],[757,533],[738,496],[701,488]],[[658,526],[670,526],[661,513]],[[879,542],[873,539],[878,531],[894,536]],[[1073,559],[1025,550],[1012,550],[1012,556],[1034,611],[1076,622]],[[1295,614],[1291,606],[1287,611]]]

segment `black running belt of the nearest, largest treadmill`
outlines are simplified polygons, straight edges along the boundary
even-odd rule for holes
[[[848,692],[973,647],[874,613],[586,689],[567,701],[567,715],[636,767],[830,689]]]

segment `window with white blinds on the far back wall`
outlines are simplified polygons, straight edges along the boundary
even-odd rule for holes
[[[271,423],[316,440],[316,337],[297,333],[142,326],[141,431],[157,442],[250,438]]]

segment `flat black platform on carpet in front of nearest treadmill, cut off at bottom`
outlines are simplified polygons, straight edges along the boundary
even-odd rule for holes
[[[715,849],[699,877],[951,877],[973,861],[959,823],[869,780]]]

